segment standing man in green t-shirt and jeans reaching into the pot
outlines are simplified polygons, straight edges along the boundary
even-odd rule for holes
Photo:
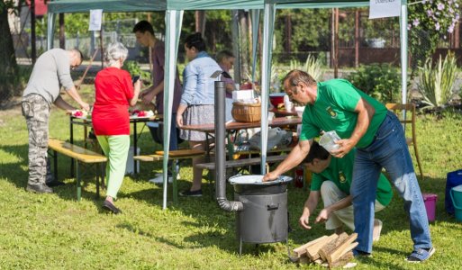
[[[310,151],[314,137],[322,130],[335,130],[340,139],[335,142],[338,149],[331,151],[333,157],[345,157],[357,148],[350,189],[358,233],[355,256],[372,252],[373,205],[379,175],[385,168],[409,216],[414,245],[407,260],[418,263],[431,257],[435,248],[431,244],[425,204],[403,126],[396,115],[344,79],[318,83],[306,72],[292,70],[284,78],[284,87],[292,100],[305,105],[302,132],[288,157],[263,180],[274,180],[300,164]]]

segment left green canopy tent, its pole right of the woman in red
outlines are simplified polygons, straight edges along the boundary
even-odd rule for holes
[[[104,12],[144,12],[166,11],[166,63],[164,85],[164,160],[163,160],[163,209],[167,208],[167,172],[168,148],[170,144],[170,119],[173,106],[173,87],[177,63],[177,48],[185,10],[218,10],[218,9],[261,9],[263,0],[56,0],[49,3],[49,18],[47,40],[48,49],[52,48],[53,30],[56,14],[81,13],[94,9],[103,9]],[[173,76],[170,76],[173,75]]]

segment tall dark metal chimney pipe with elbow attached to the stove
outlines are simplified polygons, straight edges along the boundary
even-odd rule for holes
[[[226,199],[225,93],[225,83],[215,81],[215,195],[222,210],[242,211],[242,202]]]

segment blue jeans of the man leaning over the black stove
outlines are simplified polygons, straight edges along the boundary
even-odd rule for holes
[[[404,211],[409,215],[414,250],[430,248],[430,229],[421,188],[412,166],[412,158],[404,137],[403,126],[388,112],[366,148],[358,148],[350,193],[353,196],[357,250],[372,251],[374,203],[379,174],[385,168],[397,193],[404,200]]]

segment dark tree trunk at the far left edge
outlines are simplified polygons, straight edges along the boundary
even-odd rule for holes
[[[5,5],[0,5],[0,103],[4,103],[13,97],[18,89],[17,75],[18,65],[14,56],[13,38],[8,23],[8,10]]]

